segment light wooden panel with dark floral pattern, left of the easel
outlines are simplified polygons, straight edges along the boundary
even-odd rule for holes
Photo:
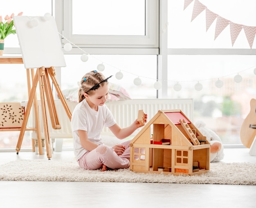
[[[0,103],[0,128],[20,128],[24,112],[20,103]]]

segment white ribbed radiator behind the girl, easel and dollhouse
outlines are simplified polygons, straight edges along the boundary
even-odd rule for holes
[[[39,107],[39,117],[40,117],[40,129],[41,136],[44,138],[43,132],[43,119],[41,113],[41,103],[38,101]],[[64,110],[64,107],[60,100],[55,101],[59,123],[61,129],[53,129],[50,123],[49,114],[49,135],[50,138],[72,138],[72,130],[70,125],[70,120]],[[77,103],[67,101],[67,105],[70,111],[73,112],[74,107]],[[112,101],[106,103],[110,111],[112,112],[115,120],[120,127],[127,127],[132,124],[138,116],[138,110],[144,110],[148,115],[148,121],[157,113],[158,110],[170,110],[170,109],[180,109],[184,114],[193,121],[193,99],[133,99],[126,101]],[[134,132],[137,134],[139,130]],[[112,134],[110,130],[106,127],[103,128],[103,134]],[[32,138],[37,139],[36,132],[32,133]]]

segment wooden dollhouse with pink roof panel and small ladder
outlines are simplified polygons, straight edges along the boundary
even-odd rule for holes
[[[130,142],[130,170],[194,175],[210,168],[210,144],[181,110],[159,110]]]

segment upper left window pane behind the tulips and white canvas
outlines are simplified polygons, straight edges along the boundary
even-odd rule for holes
[[[23,16],[44,16],[45,13],[52,13],[52,0],[11,0],[1,2],[0,16],[3,19],[6,15],[11,16],[12,13],[17,15],[21,11]],[[4,47],[20,47],[17,34],[7,36],[4,40]]]

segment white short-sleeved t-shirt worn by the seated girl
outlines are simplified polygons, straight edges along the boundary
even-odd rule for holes
[[[101,131],[103,127],[115,125],[116,121],[106,105],[98,107],[98,111],[92,110],[86,99],[78,103],[72,112],[71,127],[74,143],[74,154],[79,160],[88,150],[85,150],[80,142],[78,131],[87,131],[88,139],[96,144],[103,144]]]

